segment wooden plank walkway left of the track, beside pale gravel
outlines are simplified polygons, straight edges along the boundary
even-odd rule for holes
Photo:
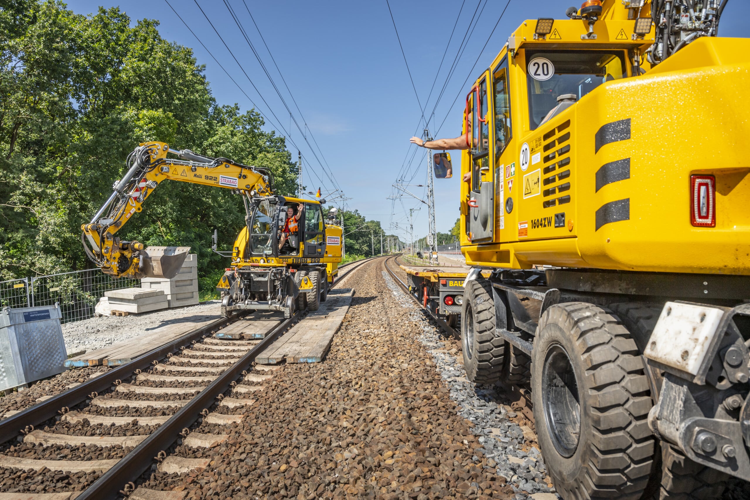
[[[191,316],[190,320],[178,321],[154,329],[153,332],[135,337],[121,343],[86,352],[65,361],[66,367],[94,367],[98,365],[118,366],[128,363],[145,352],[155,349],[170,340],[182,337],[190,331],[207,325],[216,328],[226,324],[226,318],[220,314],[202,314]],[[236,323],[235,323],[236,325]]]

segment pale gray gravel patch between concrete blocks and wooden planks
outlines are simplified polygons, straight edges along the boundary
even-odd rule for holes
[[[62,336],[65,338],[68,355],[72,355],[140,337],[157,328],[185,321],[190,316],[215,314],[218,317],[220,313],[220,301],[207,301],[196,306],[175,307],[130,316],[101,316],[62,325]]]

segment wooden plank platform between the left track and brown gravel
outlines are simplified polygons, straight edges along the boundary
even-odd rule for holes
[[[350,305],[353,289],[335,289],[320,309],[309,313],[301,322],[276,340],[256,358],[259,364],[320,363],[328,354],[333,336],[341,327]]]

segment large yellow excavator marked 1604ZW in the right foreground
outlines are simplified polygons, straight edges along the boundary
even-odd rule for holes
[[[530,392],[566,500],[750,481],[750,40],[715,36],[726,4],[528,19],[466,95],[464,364]]]

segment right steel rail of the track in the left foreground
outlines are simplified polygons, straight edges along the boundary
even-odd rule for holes
[[[187,405],[183,406],[172,418],[161,424],[157,430],[148,435],[133,451],[125,455],[110,470],[104,473],[91,486],[83,490],[77,500],[116,499],[125,484],[135,482],[151,467],[154,457],[160,451],[166,451],[177,439],[185,427],[190,427],[202,415],[203,409],[210,408],[219,394],[229,389],[232,382],[242,375],[242,371],[250,367],[257,355],[270,346],[293,322],[302,319],[305,311],[295,313],[291,318],[276,325],[266,337],[247,354],[242,356],[232,367],[223,372],[214,382],[208,385]]]

